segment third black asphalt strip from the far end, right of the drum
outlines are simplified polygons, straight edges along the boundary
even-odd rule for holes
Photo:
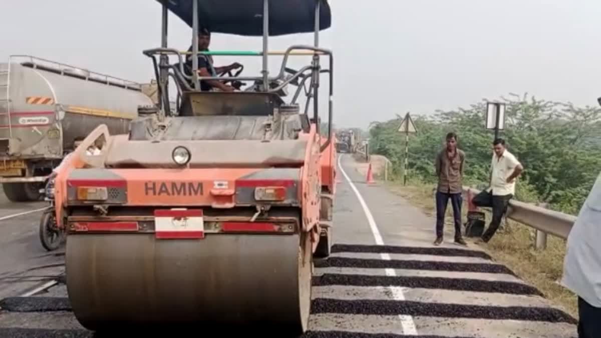
[[[469,278],[376,276],[350,274],[323,274],[313,277],[313,286],[404,286],[423,289],[461,290],[474,292],[497,292],[513,295],[543,294],[535,287],[512,281],[490,281]]]

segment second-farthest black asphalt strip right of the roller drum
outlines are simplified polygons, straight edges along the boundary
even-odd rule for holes
[[[489,274],[508,274],[514,272],[501,264],[489,263],[453,263],[434,260],[385,260],[349,257],[329,257],[315,262],[316,268],[364,268],[364,269],[411,269],[453,272],[484,272]]]

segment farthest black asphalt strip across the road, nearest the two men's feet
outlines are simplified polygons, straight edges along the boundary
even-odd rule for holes
[[[475,257],[492,260],[487,253],[454,248],[398,247],[395,245],[334,244],[332,253],[423,254],[430,256]]]

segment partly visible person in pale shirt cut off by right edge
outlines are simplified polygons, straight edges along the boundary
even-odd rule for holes
[[[578,337],[601,337],[601,173],[567,238],[561,283],[578,296]]]

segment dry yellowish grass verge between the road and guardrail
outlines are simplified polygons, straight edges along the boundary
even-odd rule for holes
[[[415,206],[421,207],[426,214],[434,217],[435,204],[432,185],[412,183],[403,186],[398,183],[388,183],[395,194],[406,198]],[[462,209],[463,220],[466,219],[466,207]],[[486,212],[487,224],[490,213]],[[452,226],[452,210],[447,208],[445,224]],[[447,227],[447,225],[445,225]],[[526,283],[537,287],[546,298],[574,318],[578,318],[578,303],[574,293],[570,292],[558,281],[563,274],[563,259],[566,254],[566,244],[561,238],[549,235],[546,250],[535,250],[534,230],[530,227],[507,220],[504,229],[499,229],[492,240],[481,244],[484,251],[494,259],[513,270]],[[466,239],[469,241],[469,239]]]

